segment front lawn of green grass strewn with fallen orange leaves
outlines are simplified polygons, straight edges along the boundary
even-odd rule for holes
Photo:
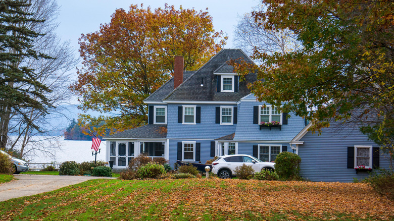
[[[0,220],[393,220],[367,184],[90,180],[0,202]]]

